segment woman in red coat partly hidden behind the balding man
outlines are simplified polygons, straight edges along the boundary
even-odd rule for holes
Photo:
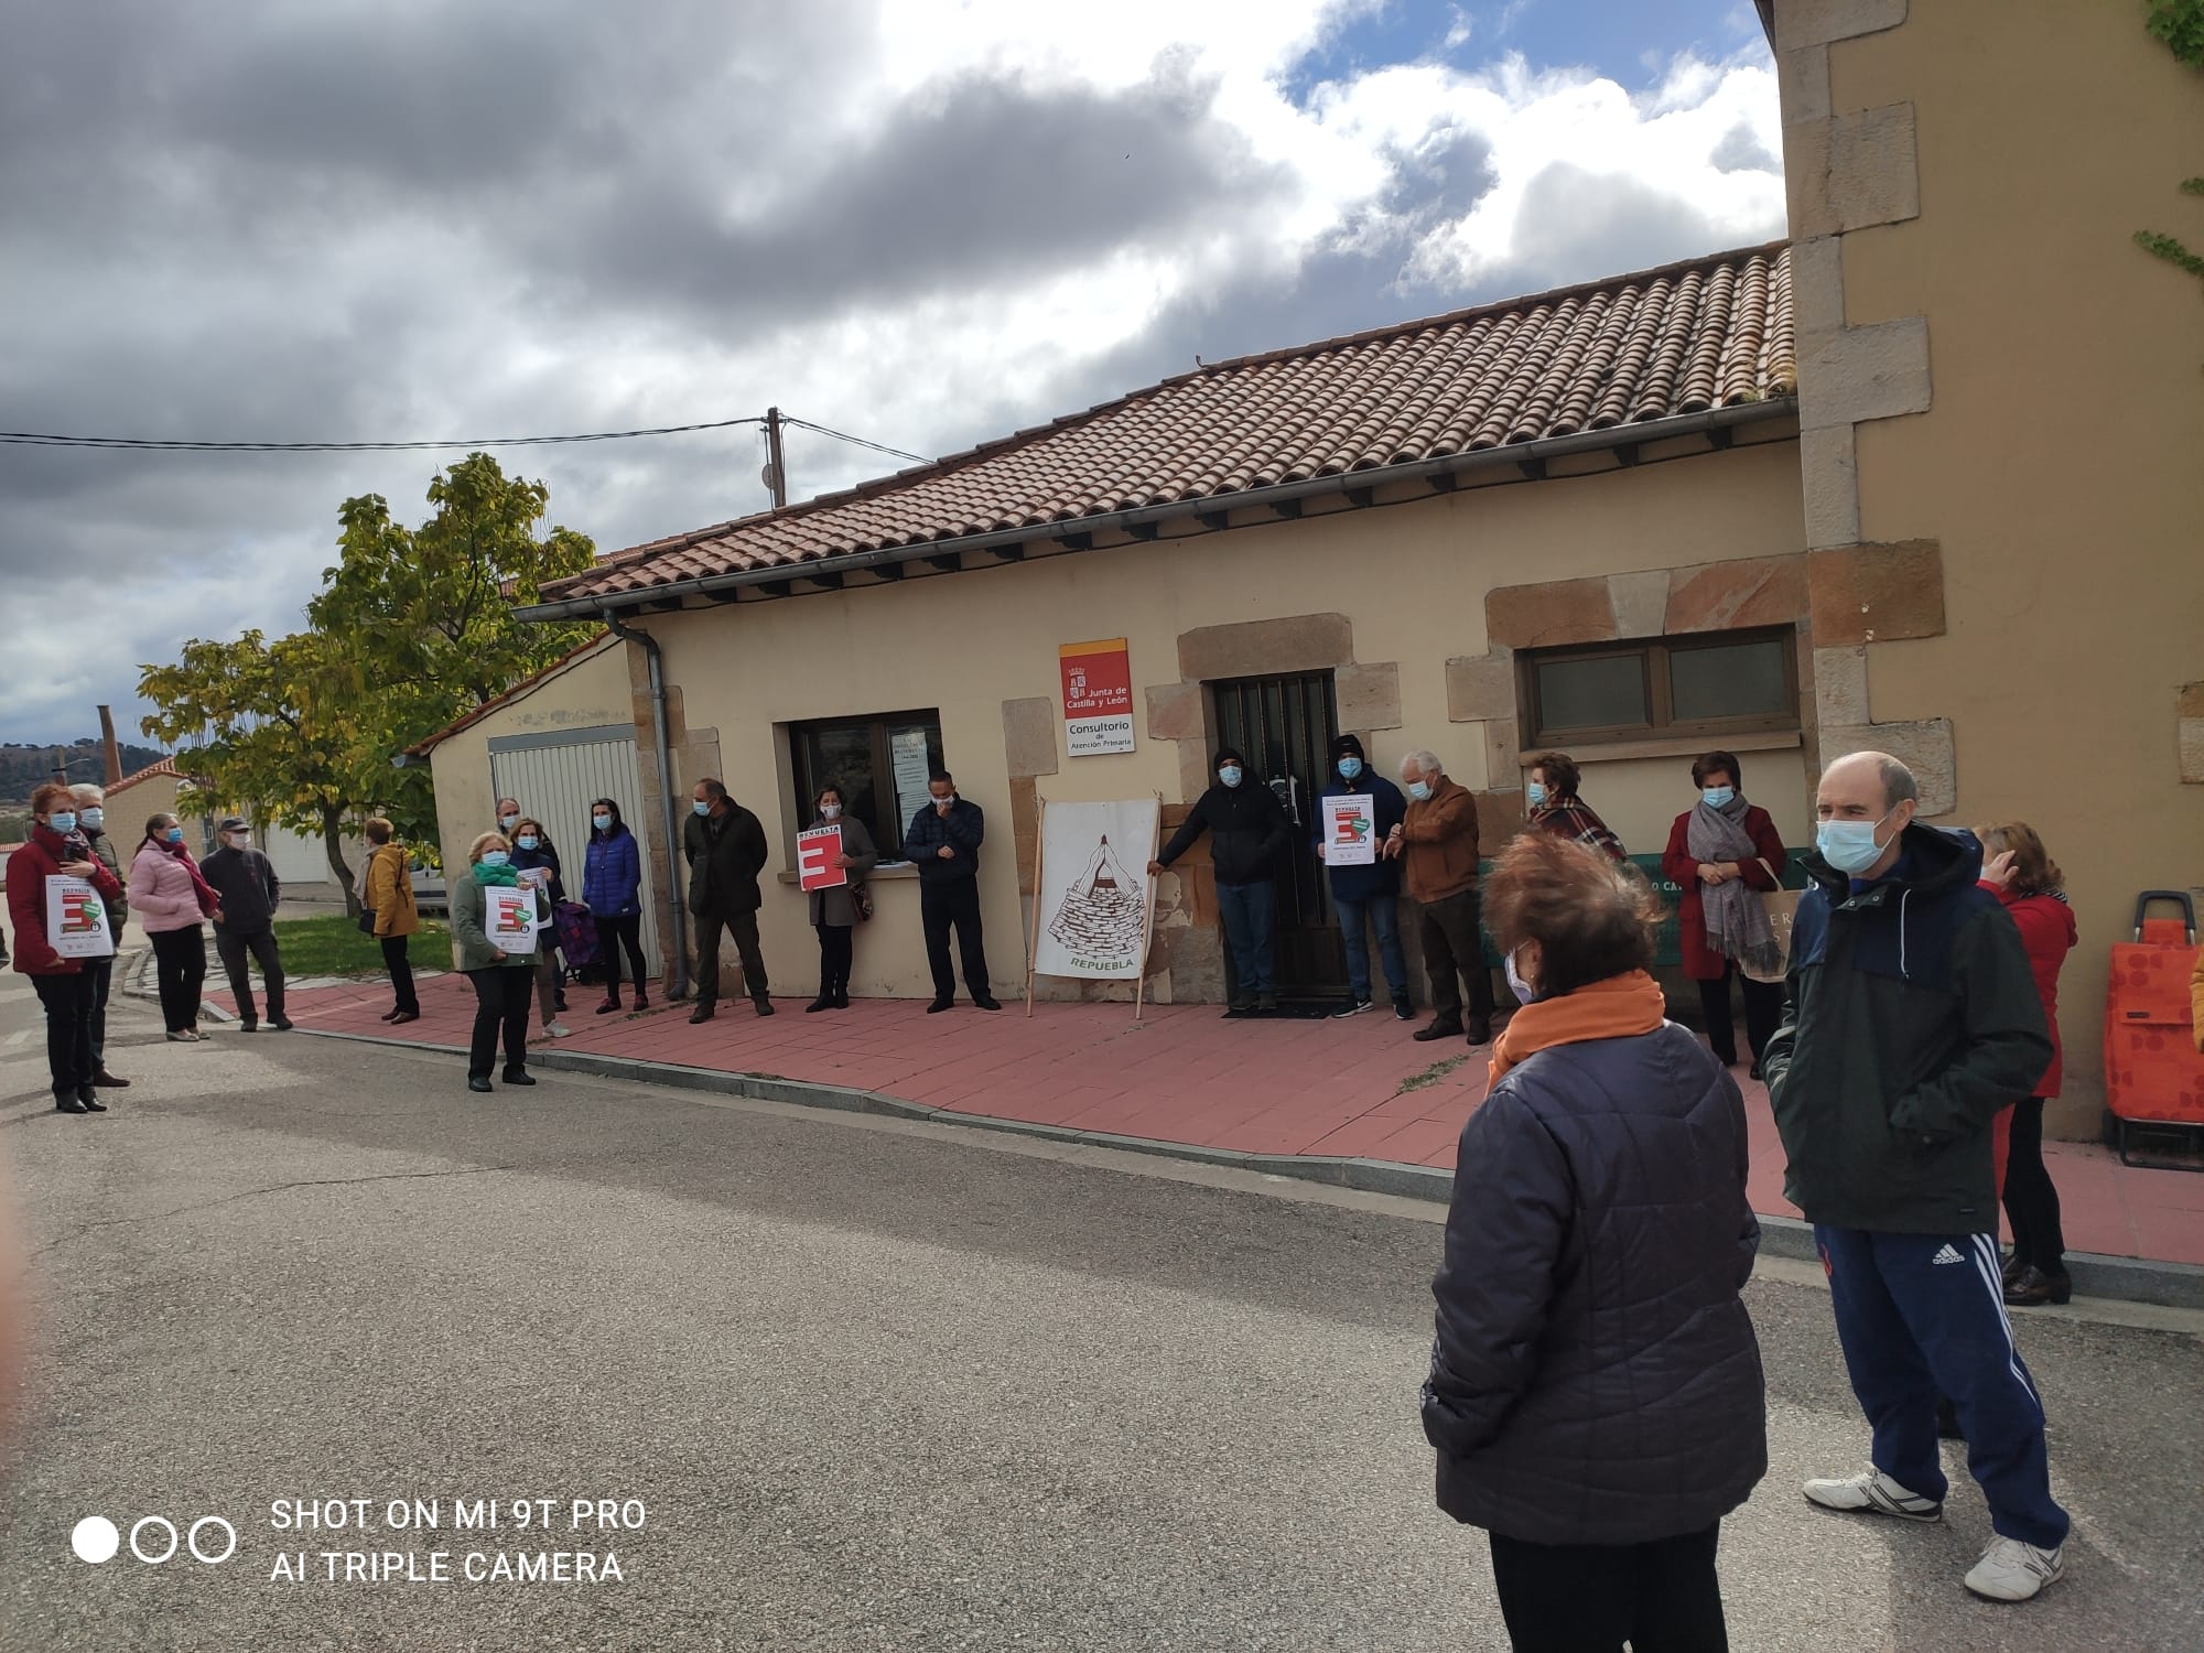
[[[1997,1115],[1999,1122],[2012,1122],[2003,1177],[2006,1221],[2012,1223],[2006,1303],[2014,1307],[2065,1303],[2074,1296],[2074,1283],[2065,1272],[2059,1190],[2052,1186],[2052,1173],[2043,1166],[2043,1102],[2059,1095],[2059,1084],[2065,1078],[2065,1056],[2059,1045],[2059,965],[2065,963],[2078,937],[2074,908],[2067,906],[2056,862],[2043,851],[2043,840],[2028,822],[1984,827],[1977,838],[1981,838],[1984,857],[1981,886],[2006,904],[2006,912],[2021,930],[2028,968],[2043,996],[2043,1020],[2052,1029],[2052,1065],[2036,1080],[2034,1095],[2014,1102],[2010,1115]]]

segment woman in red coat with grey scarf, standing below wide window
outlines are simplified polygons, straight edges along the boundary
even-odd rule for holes
[[[1677,904],[1684,974],[1699,983],[1706,1042],[1724,1067],[1737,1065],[1730,976],[1739,979],[1752,1078],[1759,1078],[1761,1054],[1783,1025],[1783,983],[1754,981],[1739,965],[1752,965],[1757,974],[1781,968],[1783,954],[1759,893],[1783,884],[1790,857],[1768,811],[1746,802],[1735,754],[1708,752],[1690,765],[1690,785],[1699,789],[1699,802],[1675,818],[1660,857],[1668,882],[1684,890]]]

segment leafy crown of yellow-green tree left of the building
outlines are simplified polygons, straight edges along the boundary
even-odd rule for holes
[[[375,809],[408,840],[434,835],[428,769],[392,758],[595,633],[511,617],[595,558],[571,529],[538,538],[551,503],[540,480],[467,454],[428,500],[436,509],[419,529],[395,522],[377,494],[344,503],[337,566],[306,604],[309,630],[273,644],[192,639],[176,666],[148,666],[139,681],[159,707],[145,732],[181,743],[179,767],[225,804],[320,833],[348,904],[346,815]]]

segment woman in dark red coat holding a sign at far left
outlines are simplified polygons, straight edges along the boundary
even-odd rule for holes
[[[95,998],[84,959],[115,957],[104,904],[121,901],[123,886],[93,860],[77,831],[77,800],[68,787],[46,782],[31,793],[31,842],[7,857],[15,970],[31,979],[37,1003],[46,1007],[53,1106],[62,1113],[106,1113],[93,1089]]]

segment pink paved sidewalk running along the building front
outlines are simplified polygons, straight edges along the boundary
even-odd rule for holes
[[[229,1005],[227,994],[209,994]],[[597,990],[573,987],[560,1051],[668,1062],[721,1073],[840,1084],[901,1102],[1073,1131],[1155,1137],[1201,1148],[1391,1159],[1452,1170],[1461,1124],[1485,1093],[1485,1054],[1461,1040],[1417,1045],[1378,1009],[1349,1020],[1223,1020],[1212,1005],[968,1003],[928,1016],[919,998],[871,998],[807,1016],[747,1001],[692,1027],[688,1005],[595,1016]],[[379,1020],[390,987],[364,981],[291,994],[302,1029],[406,1038],[465,1049],[474,990],[465,976],[421,983],[421,1020]],[[1455,1062],[1452,1058],[1468,1058]],[[1448,1071],[1437,1065],[1452,1062]],[[461,1080],[454,1073],[454,1084]],[[1752,1131],[1752,1208],[1796,1217],[1783,1199],[1783,1148],[1768,1091],[1743,1080]],[[2065,1212],[2067,1247],[2204,1265],[2204,1175],[2122,1166],[2107,1148],[2056,1142],[2045,1159]]]

